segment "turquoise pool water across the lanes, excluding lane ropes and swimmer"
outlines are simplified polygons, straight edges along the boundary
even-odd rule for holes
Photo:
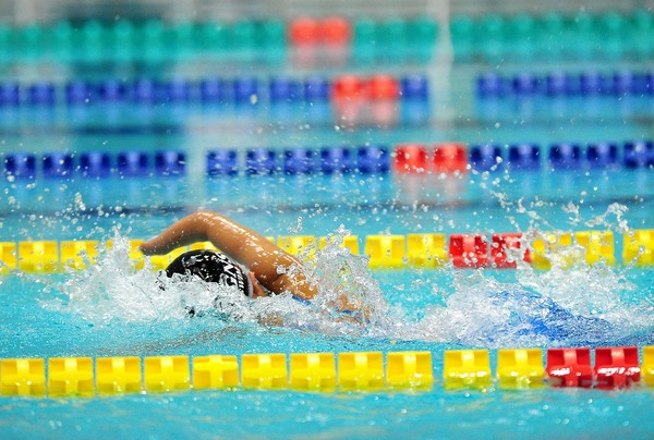
[[[2,276],[0,358],[221,354],[242,360],[243,355],[265,353],[429,352],[436,379],[431,390],[300,392],[282,387],[3,396],[2,431],[8,437],[71,438],[180,433],[448,438],[463,431],[470,437],[545,437],[553,429],[561,437],[650,436],[651,388],[448,390],[443,375],[445,352],[452,350],[488,349],[495,371],[499,349],[654,345],[653,272],[647,266],[625,264],[621,257],[628,231],[654,228],[652,168],[553,171],[547,160],[556,143],[578,143],[585,151],[592,143],[618,143],[622,148],[626,142],[654,138],[654,99],[484,100],[474,90],[485,68],[462,63],[447,73],[417,63],[409,72],[386,69],[383,61],[385,71],[396,77],[426,76],[431,99],[395,101],[390,106],[395,118],[380,121],[366,115],[385,115],[389,106],[338,109],[327,102],[310,110],[305,102],[119,101],[81,108],[3,107],[4,157],[35,155],[37,175],[2,181],[0,242],[86,240],[105,245],[112,241],[113,246],[85,271]],[[603,66],[603,61],[590,60],[570,63],[567,71]],[[633,60],[622,66],[646,68]],[[375,73],[374,63],[364,68],[362,76]],[[204,69],[193,77],[213,72],[211,66]],[[242,69],[232,75],[245,73]],[[547,62],[529,66],[536,73],[552,69]],[[338,76],[331,70],[318,73]],[[629,111],[620,112],[616,102]],[[425,144],[432,152],[434,145],[452,140],[468,148],[498,144],[502,157],[508,157],[510,145],[538,144],[540,166],[516,170],[502,162],[497,169],[464,173],[401,173],[393,168],[392,151],[400,144]],[[352,160],[362,149],[384,147],[388,170],[245,173],[246,151],[255,147],[270,148],[281,169],[287,150],[318,155],[328,146],[344,146]],[[207,175],[207,154],[221,149],[235,151],[239,175]],[[41,160],[56,151],[74,154],[74,163],[85,152],[107,152],[116,168],[120,152],[143,151],[150,168],[146,175],[112,171],[101,178],[85,176],[73,168],[72,176],[47,179]],[[159,174],[153,162],[158,151],[185,154],[184,173]],[[350,288],[367,292],[371,306],[378,310],[368,326],[335,320],[284,297],[250,304],[229,292],[221,293],[225,307],[190,319],[181,302],[207,292],[186,285],[162,295],[156,273],[129,267],[128,240],[150,237],[197,209],[226,213],[271,237],[355,235],[361,254],[370,237],[390,234],[610,231],[617,265],[589,266],[574,259],[571,267],[562,261],[552,270],[529,265],[476,270],[458,269],[450,261],[425,269],[400,258],[400,268],[368,270],[360,258],[327,246],[316,257],[319,269],[329,273],[343,265],[350,268]],[[287,326],[259,322],[277,316]]]

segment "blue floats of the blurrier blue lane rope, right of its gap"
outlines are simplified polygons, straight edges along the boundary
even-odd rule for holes
[[[480,97],[507,97],[525,95],[545,96],[592,96],[592,95],[653,95],[654,71],[619,71],[601,73],[552,72],[536,75],[529,72],[502,76],[486,72],[477,77]]]

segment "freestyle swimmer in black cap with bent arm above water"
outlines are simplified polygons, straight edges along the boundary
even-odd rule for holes
[[[144,242],[145,255],[162,255],[180,246],[211,242],[220,252],[191,250],[173,260],[166,273],[192,273],[205,281],[238,286],[245,295],[290,293],[300,302],[310,302],[318,290],[308,281],[302,262],[265,236],[216,212],[192,213]],[[346,298],[338,307],[352,306]]]

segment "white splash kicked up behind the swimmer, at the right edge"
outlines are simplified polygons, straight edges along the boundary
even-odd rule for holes
[[[652,305],[625,304],[619,293],[634,288],[609,268],[538,272],[521,266],[516,279],[458,271],[445,306],[431,306],[401,334],[487,347],[597,345],[653,325],[646,311]]]

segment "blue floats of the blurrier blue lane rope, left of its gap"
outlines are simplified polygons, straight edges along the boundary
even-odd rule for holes
[[[424,76],[414,74],[400,78],[401,96],[408,99],[428,98]],[[265,82],[256,77],[203,78],[199,81],[155,81],[140,78],[131,82],[106,80],[94,83],[72,81],[63,87],[53,83],[22,86],[16,82],[0,83],[0,106],[52,106],[57,102],[84,105],[89,102],[161,103],[161,102],[243,102],[253,103],[262,97],[269,102],[326,101],[331,97],[331,83],[322,76],[304,81],[272,77]]]

